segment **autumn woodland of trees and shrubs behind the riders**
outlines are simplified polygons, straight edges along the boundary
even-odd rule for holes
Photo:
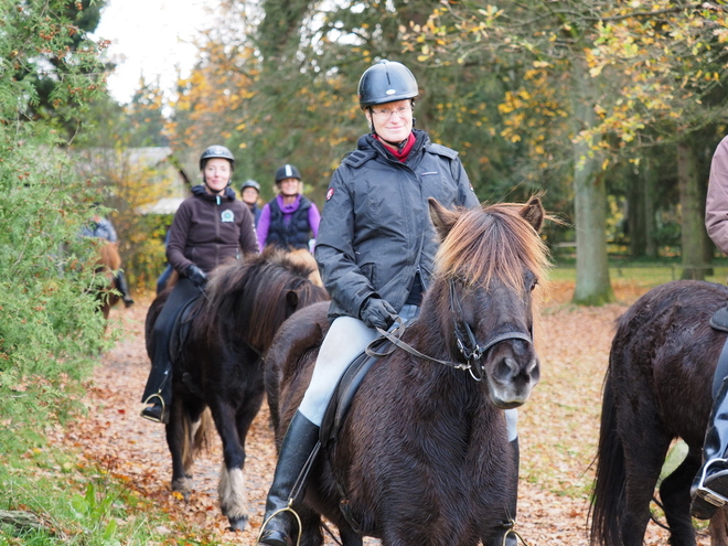
[[[38,488],[18,470],[23,456],[44,443],[49,422],[76,415],[72,395],[83,396],[113,341],[90,295],[96,249],[77,236],[92,204],[113,218],[137,290],[164,267],[171,218],[139,211],[171,189],[162,165],[131,152],[169,147],[168,161],[194,182],[201,151],[224,143],[236,185],[254,178],[268,200],[275,169],[291,162],[322,205],[331,172],[366,131],[356,83],[381,58],[415,73],[417,126],[460,151],[481,201],[544,194],[563,221],[545,240],[557,264],[576,268],[575,303],[612,301],[610,265],[624,260],[713,272],[703,208],[728,125],[725,1],[221,0],[173,98],[142,81],[128,105],[105,88],[108,44],[87,38],[103,7],[0,0],[7,507]],[[99,154],[111,160],[92,161]],[[87,490],[74,513],[101,511],[109,496],[95,495]],[[115,536],[98,522],[90,536]]]

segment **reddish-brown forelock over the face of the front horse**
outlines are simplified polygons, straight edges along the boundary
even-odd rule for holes
[[[523,286],[524,270],[543,278],[548,250],[534,227],[521,216],[523,205],[499,203],[463,210],[442,240],[435,258],[436,275],[479,282],[499,280],[514,290]]]

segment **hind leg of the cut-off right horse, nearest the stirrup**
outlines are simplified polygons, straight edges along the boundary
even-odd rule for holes
[[[700,468],[700,453],[689,452],[685,460],[660,485],[671,546],[695,546],[695,529],[690,517],[690,484]]]

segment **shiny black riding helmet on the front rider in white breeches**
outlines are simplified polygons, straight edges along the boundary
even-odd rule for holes
[[[419,95],[415,75],[404,64],[382,60],[370,66],[358,81],[362,108],[415,98]]]

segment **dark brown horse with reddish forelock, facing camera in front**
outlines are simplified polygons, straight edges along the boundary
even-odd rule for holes
[[[420,315],[402,338],[407,349],[373,365],[335,441],[319,452],[293,505],[301,546],[322,544],[321,515],[344,546],[362,536],[474,546],[515,493],[503,409],[524,404],[539,376],[532,290],[547,263],[544,210],[536,197],[458,211],[430,200],[430,215],[441,245]],[[278,445],[326,330],[326,304],[298,311],[266,355]]]

